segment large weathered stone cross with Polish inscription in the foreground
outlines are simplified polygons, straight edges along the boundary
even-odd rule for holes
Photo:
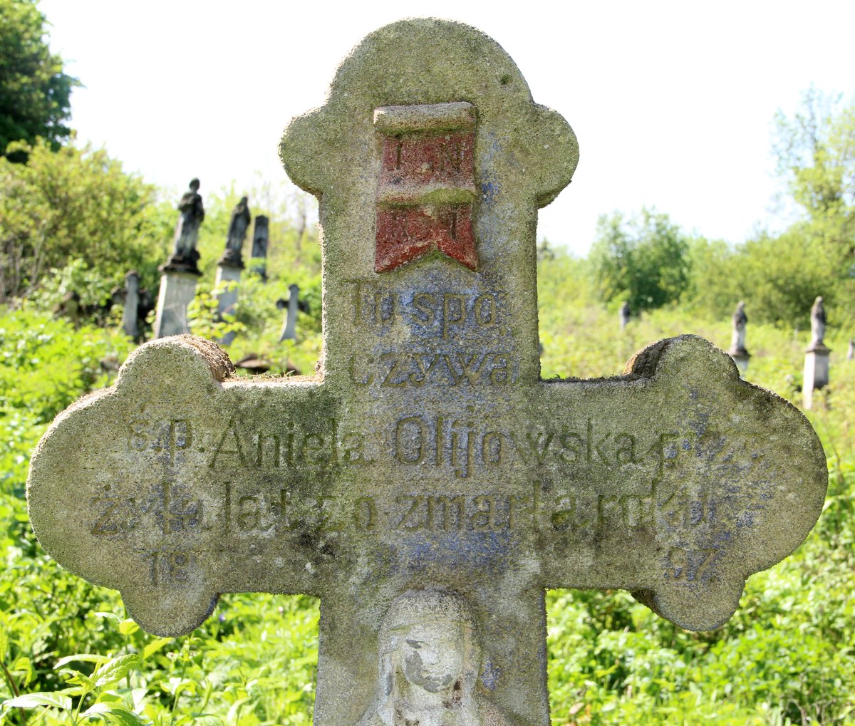
[[[237,381],[201,339],[142,346],[32,458],[45,549],[157,634],[219,593],[320,596],[318,726],[547,726],[547,587],[725,622],[816,522],[823,449],[693,336],[540,380],[537,209],[577,153],[481,32],[370,34],[281,144],[320,198],[321,372]]]

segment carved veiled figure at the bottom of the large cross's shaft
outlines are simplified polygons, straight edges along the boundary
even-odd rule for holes
[[[398,596],[380,624],[376,694],[358,726],[511,726],[483,693],[477,636],[459,595]]]

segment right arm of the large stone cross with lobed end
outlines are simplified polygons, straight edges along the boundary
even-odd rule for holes
[[[698,337],[648,347],[620,378],[544,383],[537,406],[553,422],[530,495],[549,587],[629,589],[713,629],[822,511],[810,424]]]

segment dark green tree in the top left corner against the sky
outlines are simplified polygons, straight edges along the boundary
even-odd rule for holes
[[[0,156],[10,142],[38,137],[56,150],[71,131],[65,121],[79,81],[50,53],[45,22],[32,0],[0,0]]]

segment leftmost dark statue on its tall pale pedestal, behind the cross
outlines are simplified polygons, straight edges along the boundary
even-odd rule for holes
[[[161,268],[160,294],[157,296],[155,338],[189,332],[187,305],[196,294],[196,280],[202,274],[198,268],[196,249],[199,227],[205,218],[199,180],[190,182],[190,189],[178,204],[180,215],[175,224],[174,249]]]

